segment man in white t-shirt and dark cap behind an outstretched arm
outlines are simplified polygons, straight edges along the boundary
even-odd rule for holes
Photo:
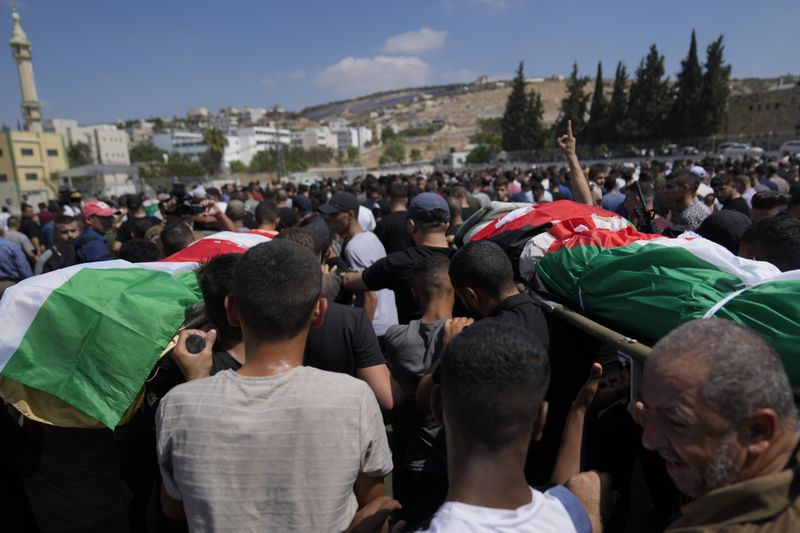
[[[342,255],[353,270],[363,272],[379,259],[386,257],[386,249],[378,236],[364,231],[358,219],[361,206],[354,194],[337,192],[321,205],[319,210],[330,217],[334,233],[344,238]],[[390,326],[397,324],[397,306],[394,292],[389,289],[361,293],[364,312],[367,314],[375,335],[383,336]]]

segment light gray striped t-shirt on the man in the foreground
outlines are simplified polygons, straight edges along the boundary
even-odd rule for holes
[[[156,429],[164,489],[192,531],[342,531],[358,473],[392,470],[369,387],[311,367],[179,385]]]

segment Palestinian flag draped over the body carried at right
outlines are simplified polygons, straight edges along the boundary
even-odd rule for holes
[[[640,233],[568,200],[492,211],[498,216],[473,224],[471,238],[510,247],[520,275],[558,299],[644,341],[690,320],[732,320],[771,342],[800,390],[800,270],[780,272],[694,234]]]

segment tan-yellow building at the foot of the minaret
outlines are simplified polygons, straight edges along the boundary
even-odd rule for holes
[[[56,196],[56,172],[69,168],[61,136],[38,131],[0,131],[0,201],[19,205]]]

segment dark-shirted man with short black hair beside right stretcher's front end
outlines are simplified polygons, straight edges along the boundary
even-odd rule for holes
[[[450,261],[450,281],[467,309],[483,320],[516,324],[533,332],[547,349],[550,338],[544,314],[514,283],[511,260],[491,241],[473,241]]]

